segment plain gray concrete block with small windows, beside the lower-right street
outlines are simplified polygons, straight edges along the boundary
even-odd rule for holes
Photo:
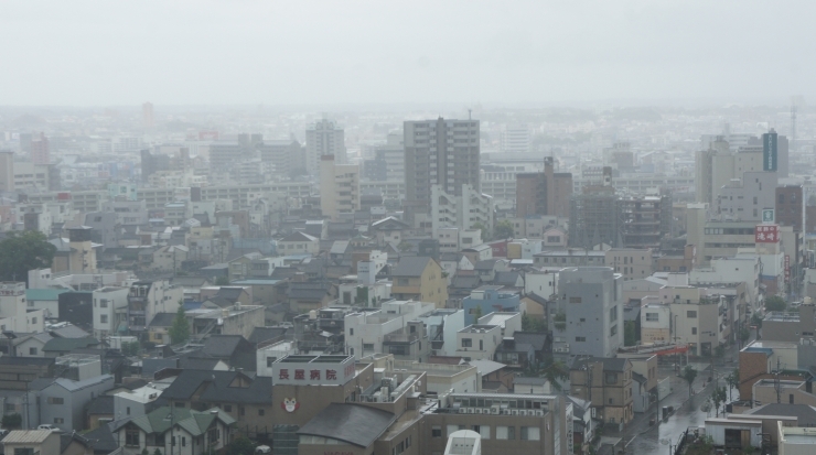
[[[622,283],[608,267],[562,270],[550,310],[552,351],[614,357],[623,346]]]

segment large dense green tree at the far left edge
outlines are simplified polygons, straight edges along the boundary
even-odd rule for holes
[[[0,241],[0,280],[29,283],[29,270],[52,266],[56,247],[39,230],[11,231]],[[87,264],[94,268],[96,264]]]

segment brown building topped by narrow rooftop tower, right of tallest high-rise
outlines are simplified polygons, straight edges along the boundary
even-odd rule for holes
[[[516,216],[556,215],[569,218],[572,174],[556,173],[552,156],[544,159],[544,172],[516,174]]]

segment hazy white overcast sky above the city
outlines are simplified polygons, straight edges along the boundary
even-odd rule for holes
[[[808,97],[816,1],[3,1],[0,105]]]

